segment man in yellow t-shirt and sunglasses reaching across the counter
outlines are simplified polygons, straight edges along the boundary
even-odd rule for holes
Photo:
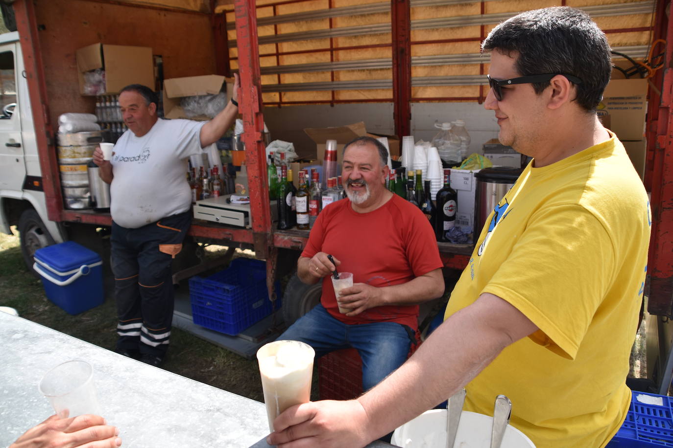
[[[507,395],[511,424],[538,447],[603,447],[621,426],[650,222],[643,184],[596,116],[608,42],[586,13],[552,7],[503,22],[482,49],[499,140],[532,162],[415,355],[357,400],[290,408],[270,443],[363,446],[462,387],[483,414]]]

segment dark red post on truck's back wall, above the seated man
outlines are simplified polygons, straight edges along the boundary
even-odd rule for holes
[[[390,1],[392,22],[392,103],[395,134],[411,133],[411,7],[409,0]]]

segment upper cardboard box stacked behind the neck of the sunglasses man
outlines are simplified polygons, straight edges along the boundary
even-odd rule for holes
[[[610,115],[610,130],[619,140],[643,140],[647,112],[647,79],[612,79],[598,104]]]

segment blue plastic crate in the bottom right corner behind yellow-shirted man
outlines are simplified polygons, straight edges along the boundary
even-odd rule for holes
[[[629,414],[607,447],[673,447],[671,398],[635,390],[631,394]],[[662,404],[643,403],[638,399],[641,395],[660,398]]]

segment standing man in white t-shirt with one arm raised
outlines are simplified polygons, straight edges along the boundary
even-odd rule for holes
[[[157,95],[144,85],[119,94],[129,130],[114,145],[112,160],[96,148],[94,163],[110,184],[116,351],[122,355],[155,366],[164,360],[173,317],[171,262],[191,222],[186,159],[232,126],[239,88],[235,75],[231,101],[208,122],[157,118]]]

